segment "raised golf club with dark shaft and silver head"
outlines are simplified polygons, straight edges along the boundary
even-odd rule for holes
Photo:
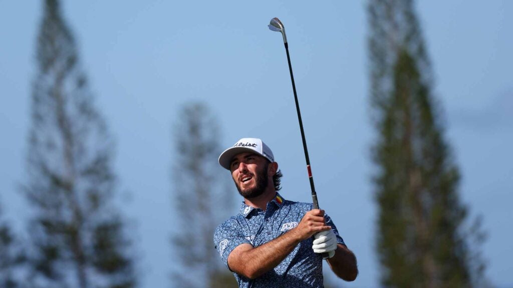
[[[299,110],[298,94],[295,92],[294,75],[292,74],[292,65],[290,64],[290,55],[288,52],[287,36],[285,35],[285,27],[283,27],[280,19],[274,17],[269,23],[269,29],[276,32],[281,32],[283,35],[283,44],[285,45],[285,51],[287,51],[287,61],[289,64],[290,79],[292,80],[292,90],[294,91],[295,109],[298,111],[299,128],[301,130],[301,138],[303,140],[303,150],[305,151],[306,169],[308,171],[308,179],[310,180],[310,188],[312,190],[312,201],[313,209],[319,209],[319,202],[317,200],[317,193],[315,192],[315,186],[313,184],[312,170],[310,168],[310,158],[308,157],[308,148],[306,148],[305,131],[303,129],[303,121],[301,120],[301,111]],[[328,253],[322,254],[323,259],[328,258]]]

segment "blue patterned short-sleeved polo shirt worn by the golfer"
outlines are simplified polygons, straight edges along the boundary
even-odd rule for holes
[[[228,266],[228,255],[243,243],[258,247],[296,227],[312,203],[284,200],[281,195],[267,203],[266,211],[249,207],[242,202],[240,213],[230,217],[214,232],[214,245]],[[344,244],[331,218],[326,223]],[[240,287],[323,287],[322,257],[312,250],[313,237],[301,241],[294,250],[273,270],[257,279],[233,273]],[[251,261],[251,259],[248,259]]]

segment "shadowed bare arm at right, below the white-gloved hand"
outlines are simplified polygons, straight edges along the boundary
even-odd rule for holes
[[[344,244],[337,244],[335,255],[328,260],[328,264],[338,277],[346,281],[354,281],[358,276],[356,256]]]

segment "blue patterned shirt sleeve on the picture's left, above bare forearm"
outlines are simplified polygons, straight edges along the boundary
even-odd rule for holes
[[[231,218],[219,225],[214,232],[214,246],[221,256],[221,260],[228,267],[228,256],[240,244],[251,242],[246,239],[243,230],[239,228],[238,221]],[[228,267],[229,268],[229,267]]]

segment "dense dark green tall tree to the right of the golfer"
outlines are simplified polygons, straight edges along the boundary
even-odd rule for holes
[[[467,225],[413,2],[369,0],[368,17],[381,283],[482,287],[483,234]]]

